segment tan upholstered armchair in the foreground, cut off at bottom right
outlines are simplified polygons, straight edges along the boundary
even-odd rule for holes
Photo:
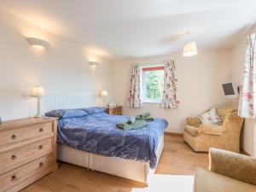
[[[194,192],[255,192],[256,158],[210,148],[209,170],[195,170]]]

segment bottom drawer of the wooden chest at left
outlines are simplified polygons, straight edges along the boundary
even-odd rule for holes
[[[38,160],[34,160],[24,166],[20,166],[15,170],[6,172],[0,176],[0,190],[8,189],[15,183],[24,181],[27,177],[30,177],[33,173],[44,171],[45,168],[53,165],[53,154],[41,157]]]

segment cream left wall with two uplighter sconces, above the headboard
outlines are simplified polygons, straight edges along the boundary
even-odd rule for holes
[[[111,64],[101,60],[96,71],[87,61],[95,57],[83,47],[44,31],[0,9],[0,116],[3,120],[35,114],[36,101],[28,96],[32,85],[42,85],[47,92],[111,95]],[[25,37],[47,40],[52,46],[44,51],[32,49]],[[95,97],[95,104],[102,104]]]

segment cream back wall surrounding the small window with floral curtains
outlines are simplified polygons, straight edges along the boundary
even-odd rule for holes
[[[183,57],[180,53],[138,60],[113,62],[113,100],[124,106],[124,113],[135,115],[150,112],[155,117],[168,120],[166,131],[183,132],[185,119],[198,115],[208,108],[223,105],[221,84],[232,78],[230,49],[200,51],[198,55]],[[177,62],[178,109],[162,109],[160,104],[143,104],[142,108],[126,107],[129,91],[131,65],[133,63],[154,63],[175,60]]]

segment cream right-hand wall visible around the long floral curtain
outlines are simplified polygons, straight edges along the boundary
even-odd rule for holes
[[[253,32],[256,32],[256,26],[253,26],[253,28],[247,32],[247,34]],[[241,85],[242,82],[242,73],[246,53],[246,36],[247,35],[241,38],[241,40],[237,42],[232,48],[232,79],[239,85]],[[238,106],[238,99],[234,101],[234,105],[236,107]],[[244,148],[248,154],[256,156],[256,123],[253,122],[253,119],[245,120],[242,133],[242,148]]]

